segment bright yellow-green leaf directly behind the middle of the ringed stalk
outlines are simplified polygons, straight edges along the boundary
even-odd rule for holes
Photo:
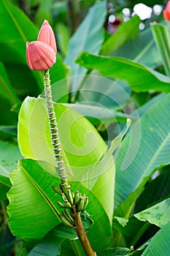
[[[63,153],[68,159],[66,163],[69,162],[72,167],[85,168],[100,159],[107,145],[92,124],[80,113],[61,104],[55,104],[55,112]],[[45,160],[55,165],[43,99],[25,99],[20,109],[18,132],[20,150],[25,157]],[[85,138],[87,135],[89,138]],[[92,140],[94,145],[91,145]],[[79,178],[79,173],[74,175]]]

